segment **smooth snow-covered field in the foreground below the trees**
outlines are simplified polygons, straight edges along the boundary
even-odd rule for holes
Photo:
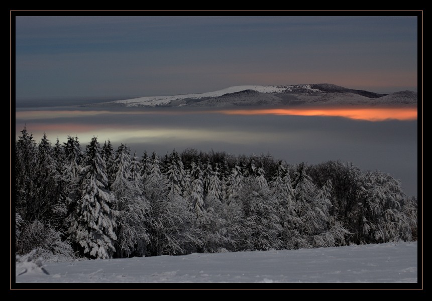
[[[19,288],[24,285],[19,283],[23,282],[283,282],[405,283],[398,284],[398,287],[406,287],[406,283],[417,283],[418,279],[417,242],[83,260],[46,263],[43,268],[48,274],[33,262],[17,263],[16,283],[13,286]],[[418,284],[422,288],[422,269]],[[257,285],[271,287],[268,284]],[[414,288],[419,288],[414,285]]]

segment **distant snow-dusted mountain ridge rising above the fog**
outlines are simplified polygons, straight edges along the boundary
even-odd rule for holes
[[[180,107],[180,106],[256,106],[256,105],[417,105],[417,92],[400,91],[378,94],[348,89],[333,84],[289,86],[233,86],[200,93],[168,96],[149,96],[116,100],[90,106],[122,107]]]

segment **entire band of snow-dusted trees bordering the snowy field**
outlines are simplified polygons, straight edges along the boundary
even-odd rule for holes
[[[270,154],[121,144],[24,127],[15,142],[15,251],[64,258],[298,249],[417,239],[417,198],[379,171]]]

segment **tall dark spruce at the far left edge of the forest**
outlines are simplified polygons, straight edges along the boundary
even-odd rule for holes
[[[15,143],[15,209],[24,220],[34,219],[36,192],[36,141],[27,128]]]

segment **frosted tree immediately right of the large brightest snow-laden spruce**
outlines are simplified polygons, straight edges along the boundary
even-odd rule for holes
[[[136,163],[129,148],[122,143],[113,163],[115,176],[111,185],[116,198],[113,213],[117,224],[117,257],[143,256],[149,242],[145,225],[149,206],[142,193],[143,183]]]

